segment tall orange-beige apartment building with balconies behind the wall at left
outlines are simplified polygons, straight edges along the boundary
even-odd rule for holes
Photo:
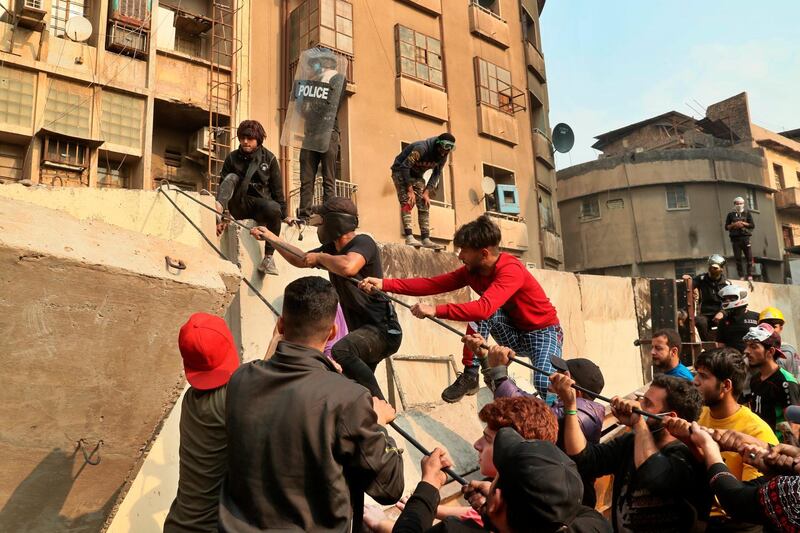
[[[539,0],[0,0],[0,179],[49,186],[209,188],[244,118],[261,121],[298,203],[298,150],[281,147],[299,51],[348,60],[337,193],[363,231],[396,242],[389,167],[403,143],[457,138],[431,233],[489,212],[503,247],[561,268]],[[85,42],[67,21],[92,25]],[[501,212],[481,179],[513,186]],[[508,194],[508,193],[505,193]],[[510,200],[513,200],[509,197]],[[512,201],[513,203],[513,201]]]

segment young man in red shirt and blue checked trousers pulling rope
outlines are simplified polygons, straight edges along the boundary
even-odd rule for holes
[[[436,306],[418,303],[411,312],[417,318],[470,322],[468,335],[478,333],[488,338],[491,334],[498,344],[527,355],[536,366],[553,373],[550,358],[561,356],[564,339],[556,309],[525,265],[500,252],[500,239],[500,228],[483,215],[456,231],[453,243],[460,249],[458,258],[464,263],[458,270],[432,278],[365,278],[359,286],[366,292],[377,288],[410,296],[441,294],[469,286],[480,295],[478,300]],[[442,392],[446,402],[457,402],[465,394],[478,392],[478,360],[466,347],[462,362],[464,372]],[[543,398],[548,384],[548,374],[534,373],[534,385]]]

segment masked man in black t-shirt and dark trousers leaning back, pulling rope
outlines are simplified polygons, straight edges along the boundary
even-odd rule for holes
[[[288,244],[265,227],[253,228],[257,239],[274,244],[286,261],[298,268],[321,267],[330,272],[339,296],[347,328],[344,338],[333,345],[331,355],[345,376],[384,399],[375,379],[375,368],[400,348],[403,334],[394,306],[380,296],[358,290],[347,278],[382,276],[380,251],[369,235],[356,235],[358,211],[348,198],[334,196],[312,216],[322,246],[306,253]]]

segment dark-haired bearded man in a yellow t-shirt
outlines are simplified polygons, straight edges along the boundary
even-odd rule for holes
[[[738,350],[707,350],[698,356],[695,370],[697,375],[694,384],[702,394],[705,404],[698,424],[715,430],[733,430],[763,442],[778,444],[778,438],[767,423],[737,402],[747,380],[747,363]],[[731,473],[741,481],[749,481],[761,475],[754,467],[744,464],[742,456],[736,452],[724,452],[722,458]],[[711,509],[708,532],[761,530],[761,526],[731,519],[718,503]]]

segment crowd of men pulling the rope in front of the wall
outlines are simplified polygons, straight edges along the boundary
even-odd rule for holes
[[[376,277],[374,242],[354,241],[354,206],[334,198],[325,215],[328,244],[302,260],[274,232],[253,230],[295,266],[332,271],[333,282],[310,276],[285,287],[271,357],[239,365],[218,317],[195,314],[181,329],[190,388],[164,531],[800,532],[800,388],[780,364],[789,351],[780,311],[747,311],[747,290],[722,284],[723,319],[704,310],[719,323],[718,346],[699,355],[694,373],[680,361],[678,332],[655,331],[656,375],[640,396],[611,398],[620,430],[604,439],[601,369],[584,358],[560,372],[550,365],[563,341],[556,310],[530,271],[499,251],[490,219],[459,228],[460,269],[399,280]],[[341,281],[357,273],[360,294]],[[485,428],[463,505],[442,505],[452,457],[442,448],[424,456],[406,494],[407,444],[390,436],[396,413],[371,374],[399,345],[381,291],[465,286],[479,299],[412,310],[469,324],[465,371],[443,399],[475,394],[481,373],[494,396],[475,415]],[[487,345],[490,335],[498,345]],[[546,370],[534,373],[535,391],[509,376],[517,357]],[[609,475],[603,516],[595,481]],[[365,495],[383,507],[365,504]],[[396,520],[383,512],[392,505]]]

